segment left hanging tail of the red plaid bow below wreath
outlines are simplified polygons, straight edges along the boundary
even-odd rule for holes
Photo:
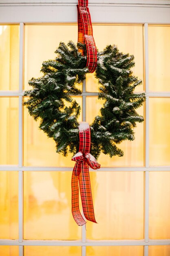
[[[79,186],[78,186],[79,176],[75,176],[73,171],[71,178],[71,190],[72,190],[72,214],[75,222],[79,226],[86,224],[86,221],[82,217],[79,211]]]

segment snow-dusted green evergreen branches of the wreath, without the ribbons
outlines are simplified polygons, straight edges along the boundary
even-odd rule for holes
[[[84,56],[78,47],[84,49]],[[24,105],[35,121],[40,118],[39,128],[55,140],[57,153],[75,155],[79,149],[77,118],[80,106],[72,96],[82,94],[77,87],[89,73],[86,47],[69,41],[67,45],[60,43],[55,53],[55,60],[42,63],[44,75],[29,81],[33,89],[24,93],[29,96]],[[136,86],[141,84],[130,70],[134,65],[134,56],[119,52],[115,45],[97,52],[98,99],[104,99],[105,103],[90,125],[91,154],[96,159],[101,152],[110,157],[123,156],[117,144],[126,139],[134,140],[133,128],[137,122],[144,121],[136,112],[144,103],[145,94],[134,93]]]

